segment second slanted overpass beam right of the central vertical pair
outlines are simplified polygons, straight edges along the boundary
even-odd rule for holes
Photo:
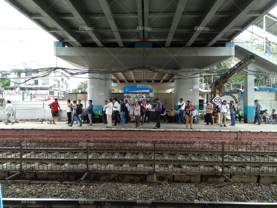
[[[191,36],[190,40],[186,44],[186,47],[190,47],[191,44],[196,40],[196,38],[199,36],[199,34],[202,32],[201,28],[206,27],[206,25],[209,23],[209,21],[213,18],[216,11],[219,9],[219,7],[222,5],[224,0],[217,0],[214,4],[211,4],[211,7],[209,9],[209,12],[205,17],[202,18],[200,21],[200,24],[198,25],[198,30],[194,32],[194,34]]]

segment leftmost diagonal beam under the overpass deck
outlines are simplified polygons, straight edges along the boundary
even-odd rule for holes
[[[46,20],[57,27],[62,33],[67,36],[74,46],[82,46],[78,40],[80,39],[76,33],[68,30],[70,26],[61,19],[58,19],[56,13],[53,9],[49,9],[51,5],[45,3],[42,0],[26,0],[26,2],[31,5],[35,10],[37,10],[42,16],[46,18]]]

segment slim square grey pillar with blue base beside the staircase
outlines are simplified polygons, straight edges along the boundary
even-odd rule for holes
[[[248,66],[248,69],[250,67]],[[254,67],[251,68],[254,70]],[[244,123],[254,122],[254,75],[244,72],[244,100],[243,100]]]

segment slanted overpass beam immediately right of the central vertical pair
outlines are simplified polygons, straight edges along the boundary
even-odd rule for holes
[[[175,34],[175,31],[177,29],[177,26],[179,24],[179,21],[180,21],[180,18],[182,16],[182,14],[183,14],[186,3],[187,3],[187,0],[179,0],[179,3],[178,3],[177,8],[176,8],[175,15],[174,15],[171,27],[170,27],[170,31],[169,31],[169,34],[168,34],[168,37],[167,37],[167,40],[166,40],[165,47],[170,46],[170,43],[171,43],[171,41],[173,39],[173,36]]]

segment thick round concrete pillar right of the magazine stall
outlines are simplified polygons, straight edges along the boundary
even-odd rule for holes
[[[174,76],[174,109],[178,110],[180,98],[192,101],[196,110],[199,112],[199,77],[191,79],[178,79],[181,76]]]

